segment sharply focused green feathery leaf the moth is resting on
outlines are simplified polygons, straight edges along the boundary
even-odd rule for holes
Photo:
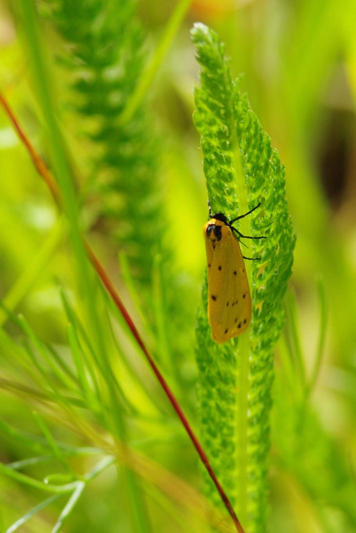
[[[262,533],[268,508],[274,346],[284,322],[282,301],[292,272],[295,238],[287,212],[284,167],[247,96],[239,92],[239,80],[231,79],[223,44],[201,23],[194,25],[192,40],[201,66],[194,122],[201,134],[212,213],[223,212],[233,219],[260,202],[259,209],[241,220],[240,230],[243,235],[266,237],[244,252],[261,257],[246,261],[253,304],[249,331],[223,345],[211,341],[206,280],[197,321],[203,439],[243,526],[249,533]],[[208,481],[206,490],[214,499]]]

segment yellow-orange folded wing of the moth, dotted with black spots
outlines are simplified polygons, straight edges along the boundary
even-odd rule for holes
[[[238,240],[227,225],[222,227],[222,238],[212,251],[210,264],[208,317],[213,341],[223,343],[241,335],[251,319],[251,296],[243,256]]]

